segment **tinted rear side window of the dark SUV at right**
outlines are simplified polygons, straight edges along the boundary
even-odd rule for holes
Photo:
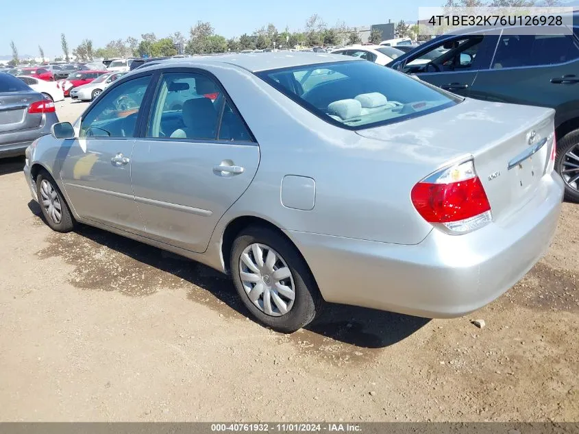
[[[579,45],[573,35],[504,35],[500,38],[492,68],[534,67],[577,58]]]

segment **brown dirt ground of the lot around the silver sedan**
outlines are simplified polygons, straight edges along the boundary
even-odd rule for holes
[[[58,106],[73,121],[86,104]],[[539,264],[469,317],[328,306],[281,335],[203,265],[52,232],[22,166],[0,161],[1,421],[579,420],[578,205]]]

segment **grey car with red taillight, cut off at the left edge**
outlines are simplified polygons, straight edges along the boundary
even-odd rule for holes
[[[22,80],[0,73],[0,158],[23,155],[58,122],[53,101]]]

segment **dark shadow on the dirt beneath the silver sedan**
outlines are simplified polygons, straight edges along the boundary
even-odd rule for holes
[[[30,201],[28,207],[34,215],[44,221],[40,206],[36,202]],[[79,225],[75,233],[98,245],[104,245],[128,256],[134,261],[162,270],[205,289],[233,311],[251,319],[249,311],[239,300],[230,278],[206,265],[92,226]],[[81,263],[85,260],[78,258]],[[103,273],[106,273],[106,270],[103,269]],[[208,301],[205,297],[189,298],[199,303],[209,304],[210,308],[215,307],[215,303]],[[226,313],[221,308],[220,311]],[[320,337],[331,338],[360,348],[384,348],[406,339],[429,321],[426,318],[327,303],[320,317],[306,326],[306,330]]]

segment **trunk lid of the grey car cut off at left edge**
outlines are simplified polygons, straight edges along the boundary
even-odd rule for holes
[[[0,93],[0,133],[38,128],[42,113],[29,114],[28,108],[42,98],[36,92]]]

